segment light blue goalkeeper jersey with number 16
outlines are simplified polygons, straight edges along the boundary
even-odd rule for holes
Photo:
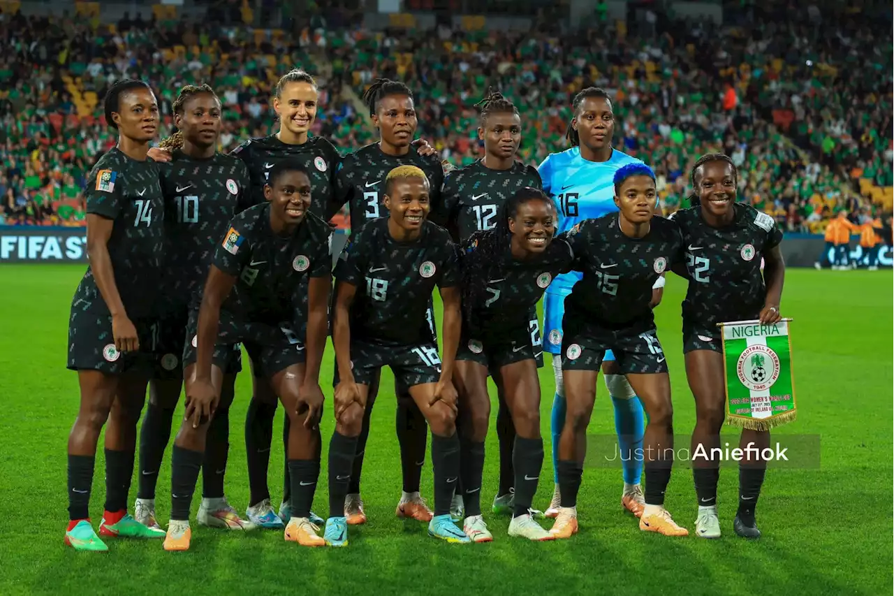
[[[614,204],[614,174],[621,166],[643,163],[618,149],[612,149],[608,161],[587,161],[580,157],[580,148],[572,147],[548,155],[537,168],[559,212],[557,232],[567,232],[579,221],[601,217],[617,211]],[[570,294],[571,286],[582,274],[571,271],[552,280],[547,292]]]

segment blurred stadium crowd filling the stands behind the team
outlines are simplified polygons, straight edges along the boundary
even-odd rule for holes
[[[841,210],[862,224],[894,199],[873,204],[881,195],[866,184],[894,185],[891,45],[859,14],[817,21],[798,10],[805,19],[785,25],[753,12],[721,35],[694,23],[641,38],[613,26],[561,37],[549,27],[371,32],[345,26],[338,14],[333,22],[318,15],[316,29],[291,38],[245,27],[212,34],[207,24],[139,15],[94,29],[17,14],[0,23],[0,81],[8,89],[0,92],[0,217],[11,225],[83,225],[84,176],[114,144],[101,100],[122,76],[157,89],[162,136],[176,89],[210,83],[225,104],[228,150],[272,131],[271,84],[299,64],[323,86],[316,133],[345,152],[370,142],[373,129],[342,86],[359,95],[376,76],[414,89],[420,134],[458,166],[480,155],[474,104],[488,85],[519,106],[521,154],[536,165],[565,147],[569,98],[595,83],[615,98],[616,146],[654,166],[665,214],[686,203],[691,162],[721,150],[742,172],[740,198],[785,229],[822,232]]]

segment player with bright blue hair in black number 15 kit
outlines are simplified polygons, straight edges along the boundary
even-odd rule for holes
[[[562,374],[568,413],[559,443],[561,505],[552,526],[556,538],[578,532],[578,489],[586,452],[586,426],[593,413],[596,377],[606,350],[643,400],[645,509],[640,530],[685,536],[664,508],[671,479],[673,434],[671,379],[655,335],[652,288],[682,260],[679,228],[656,217],[655,176],[644,164],[621,167],[614,176],[619,214],[586,219],[568,242],[584,274],[565,299]]]

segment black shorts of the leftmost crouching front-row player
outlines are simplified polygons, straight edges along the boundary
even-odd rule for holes
[[[234,372],[234,362],[239,359],[241,367],[240,343],[245,345],[251,362],[254,362],[256,377],[269,379],[274,374],[292,364],[305,362],[304,343],[292,330],[291,322],[278,326],[266,323],[245,323],[235,319],[227,311],[221,311],[217,327],[217,342],[211,362],[224,373]],[[183,368],[196,362],[198,311],[190,312],[187,325],[188,342],[183,345]]]

